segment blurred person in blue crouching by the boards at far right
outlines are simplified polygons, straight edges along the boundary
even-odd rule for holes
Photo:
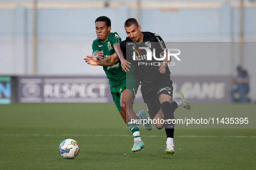
[[[233,83],[236,84],[236,88],[231,90],[232,102],[236,102],[235,94],[239,93],[241,102],[247,103],[246,94],[249,92],[249,78],[247,71],[242,69],[241,66],[237,67],[237,77],[233,78]]]

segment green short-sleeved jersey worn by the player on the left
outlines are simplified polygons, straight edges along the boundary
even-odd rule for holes
[[[95,39],[92,43],[92,54],[96,51],[103,51],[104,58],[107,58],[114,54],[116,51],[114,49],[114,44],[120,44],[121,38],[117,32],[110,32],[108,38],[105,41],[100,41]],[[123,79],[126,79],[126,72],[123,71],[121,67],[121,62],[118,60],[117,63],[114,63],[112,66],[103,66],[103,69],[109,79],[109,84],[111,87],[119,85]]]

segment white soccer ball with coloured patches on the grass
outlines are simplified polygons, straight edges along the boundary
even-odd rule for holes
[[[66,139],[59,145],[59,153],[66,159],[73,159],[78,156],[79,145],[74,139]]]

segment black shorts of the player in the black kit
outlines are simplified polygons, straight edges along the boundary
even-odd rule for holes
[[[172,97],[173,87],[172,80],[163,79],[161,82],[151,85],[141,85],[141,93],[149,112],[149,116],[153,119],[161,108],[159,101],[160,94],[167,94]]]

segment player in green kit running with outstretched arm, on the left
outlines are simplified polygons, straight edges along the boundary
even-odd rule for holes
[[[95,28],[97,39],[95,39],[92,44],[92,56],[87,56],[84,60],[90,65],[103,66],[107,78],[109,79],[113,101],[123,117],[123,120],[126,122],[126,112],[128,116],[131,115],[130,112],[134,113],[132,103],[138,90],[136,75],[133,73],[134,68],[130,68],[131,70],[129,70],[129,68],[126,67],[126,60],[120,47],[121,38],[117,32],[110,32],[110,19],[106,16],[98,17],[95,20]],[[129,66],[129,63],[127,66]],[[127,74],[126,70],[128,71]],[[128,87],[126,87],[126,79],[129,81]],[[143,110],[141,110],[136,117],[137,119],[147,119],[146,113]],[[126,122],[126,124],[129,126],[128,122]],[[148,130],[152,129],[150,123],[144,126]],[[133,127],[131,131],[133,132],[135,129],[138,130],[139,127]],[[134,138],[138,137],[139,135],[134,136]],[[136,152],[143,148],[144,145],[142,147],[136,145],[136,147],[133,147],[132,151]]]

